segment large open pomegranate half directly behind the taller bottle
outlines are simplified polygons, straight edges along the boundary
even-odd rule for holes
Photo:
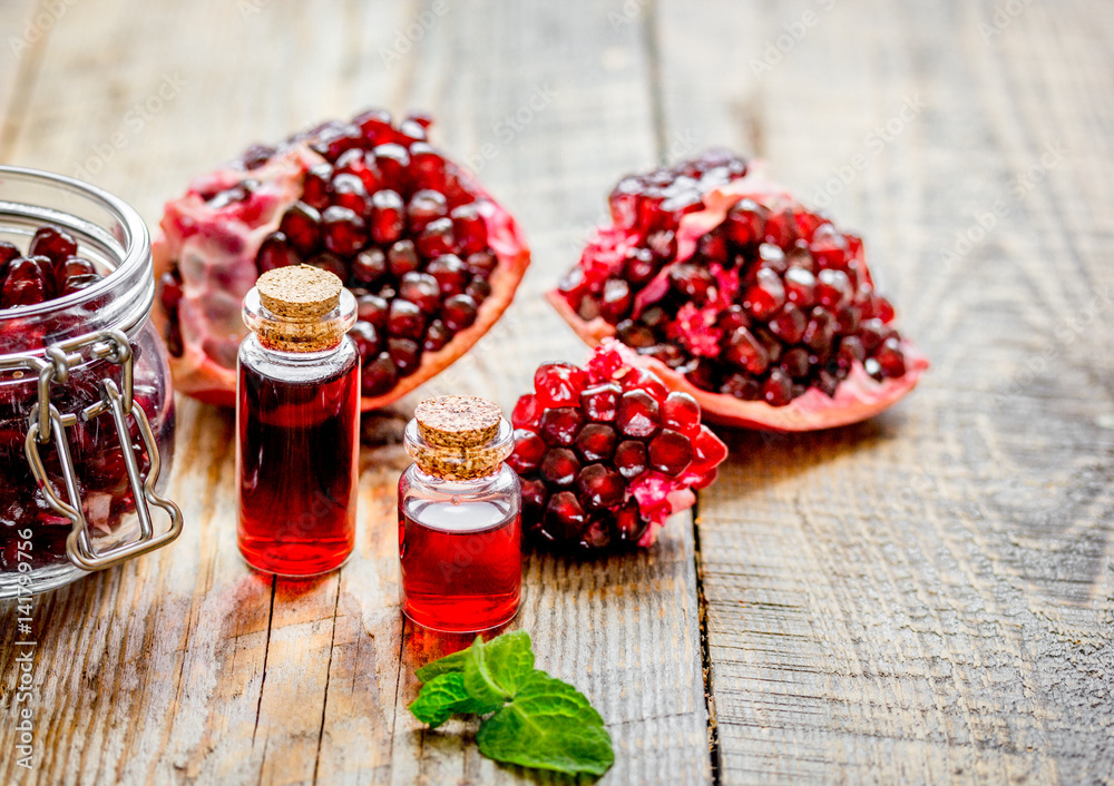
[[[233,405],[241,303],[307,263],[356,295],[362,409],[442,371],[510,305],[530,262],[517,224],[433,148],[430,120],[382,110],[255,146],[168,202],[153,252],[156,323],[178,390]]]

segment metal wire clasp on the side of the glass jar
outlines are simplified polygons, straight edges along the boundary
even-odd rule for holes
[[[70,561],[85,570],[102,570],[173,541],[182,531],[182,511],[174,502],[160,497],[155,491],[162,462],[146,413],[143,407],[133,405],[134,357],[127,335],[118,330],[91,333],[52,344],[47,347],[45,354],[46,358],[25,358],[26,366],[38,373],[39,383],[38,403],[31,407],[28,416],[28,431],[23,450],[27,453],[27,461],[31,465],[31,473],[35,475],[47,503],[59,515],[69,519],[72,524],[74,529],[66,539],[66,553]],[[120,385],[117,385],[115,380],[106,377],[98,385],[99,401],[89,404],[79,412],[61,413],[50,403],[50,387],[56,383],[65,384],[69,380],[70,369],[86,360],[106,360],[119,366]],[[79,417],[88,422],[106,412],[111,414],[116,434],[120,441],[128,484],[131,488],[136,515],[139,519],[139,537],[98,551],[92,546],[89,522],[85,518],[66,429],[77,425]],[[139,472],[139,459],[131,446],[128,417],[135,422],[147,450],[150,469],[146,478],[143,478]],[[47,468],[39,454],[39,445],[51,441],[53,441],[58,452],[58,463],[61,466],[67,499],[62,499],[55,483],[47,476]],[[162,508],[170,517],[169,529],[157,536],[150,519],[150,505]]]

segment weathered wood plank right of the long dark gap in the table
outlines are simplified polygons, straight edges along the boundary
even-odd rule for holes
[[[1001,8],[657,9],[666,136],[830,202],[935,363],[874,423],[736,435],[702,493],[724,783],[1114,772],[1114,30]]]

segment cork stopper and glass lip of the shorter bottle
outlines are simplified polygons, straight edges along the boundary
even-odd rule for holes
[[[421,402],[407,426],[407,452],[427,474],[450,481],[496,472],[514,450],[514,431],[499,407],[472,395]]]

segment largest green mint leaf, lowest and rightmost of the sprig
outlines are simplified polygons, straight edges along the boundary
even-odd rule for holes
[[[576,688],[545,671],[521,680],[514,700],[480,726],[476,741],[497,762],[568,775],[598,777],[615,763],[599,713]]]

